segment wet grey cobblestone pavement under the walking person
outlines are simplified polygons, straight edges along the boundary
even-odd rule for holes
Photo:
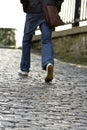
[[[55,60],[45,83],[41,57],[18,76],[21,50],[0,49],[0,130],[87,130],[87,67]]]

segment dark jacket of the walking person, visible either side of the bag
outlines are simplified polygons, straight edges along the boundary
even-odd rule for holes
[[[58,12],[61,11],[61,5],[64,0],[44,0],[46,4],[48,5],[54,5],[56,4],[58,8]],[[40,0],[20,0],[20,2],[23,5],[24,12],[30,12],[30,13],[40,13],[42,12],[42,5],[40,3]]]

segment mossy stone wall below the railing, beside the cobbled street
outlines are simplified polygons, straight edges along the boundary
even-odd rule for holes
[[[53,32],[54,53],[57,59],[87,65],[87,27]],[[33,38],[32,48],[40,51],[40,36]]]

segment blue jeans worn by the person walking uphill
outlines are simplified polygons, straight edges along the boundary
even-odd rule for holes
[[[48,63],[54,64],[54,52],[52,43],[52,29],[49,28],[45,22],[42,14],[27,14],[24,28],[24,36],[22,42],[22,58],[20,63],[20,69],[22,71],[29,72],[30,68],[30,50],[32,36],[39,26],[41,30],[42,41],[42,68]]]

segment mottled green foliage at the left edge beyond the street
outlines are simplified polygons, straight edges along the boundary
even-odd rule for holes
[[[6,46],[15,46],[15,29],[0,28],[0,44]]]

